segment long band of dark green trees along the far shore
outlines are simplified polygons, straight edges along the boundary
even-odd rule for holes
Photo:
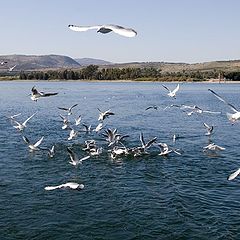
[[[204,81],[217,79],[219,71],[186,71],[162,72],[161,69],[148,68],[99,68],[89,65],[82,69],[49,70],[20,72],[19,78],[23,80],[151,80],[151,81]],[[221,76],[230,80],[239,81],[240,72],[221,72]]]

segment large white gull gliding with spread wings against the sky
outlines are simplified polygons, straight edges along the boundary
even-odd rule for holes
[[[76,25],[68,25],[69,29],[77,32],[85,32],[91,29],[97,29],[97,32],[100,33],[109,33],[113,31],[124,37],[135,37],[137,32],[132,28],[125,28],[119,25],[114,24],[106,24],[106,25],[96,25],[96,26],[76,26]]]

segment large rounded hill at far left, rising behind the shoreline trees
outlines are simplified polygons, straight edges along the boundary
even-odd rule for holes
[[[47,68],[79,68],[81,65],[68,56],[61,55],[1,55],[0,62],[7,61],[5,68],[16,65],[15,71],[31,71]],[[0,71],[4,66],[0,67]]]

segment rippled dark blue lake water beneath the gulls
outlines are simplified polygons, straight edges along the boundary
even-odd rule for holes
[[[33,102],[28,96],[33,85],[59,94]],[[173,100],[161,83],[0,82],[0,239],[240,239],[240,178],[227,180],[240,167],[240,125],[227,120],[231,109],[208,88],[240,108],[239,84],[182,84]],[[152,147],[149,155],[113,160],[99,134],[67,141],[58,107],[75,103],[72,121],[81,115],[82,122],[96,126],[97,108],[110,108],[115,115],[104,120],[105,129],[129,134],[128,147],[140,145],[142,132],[182,155],[161,157]],[[222,114],[163,110],[172,103]],[[145,111],[152,104],[159,109]],[[42,147],[54,144],[53,159],[45,151],[28,151],[5,117],[19,112],[19,121],[37,112],[24,135],[33,142],[44,136]],[[203,152],[209,142],[203,122],[215,126],[211,140],[225,151]],[[175,144],[173,134],[180,136]],[[66,149],[86,156],[87,139],[96,139],[103,153],[73,167]],[[85,187],[44,190],[70,181]]]

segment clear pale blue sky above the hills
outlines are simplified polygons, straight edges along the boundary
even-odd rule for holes
[[[114,63],[240,59],[239,0],[0,0],[0,9],[0,55]],[[69,24],[117,24],[138,34],[74,32]]]

